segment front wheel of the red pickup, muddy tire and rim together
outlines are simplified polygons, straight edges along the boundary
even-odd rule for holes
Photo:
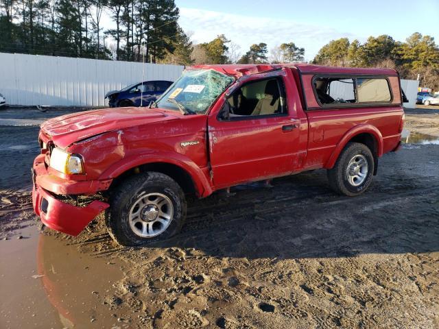
[[[106,210],[108,232],[117,243],[139,246],[178,233],[186,217],[180,186],[163,173],[147,172],[123,182]]]

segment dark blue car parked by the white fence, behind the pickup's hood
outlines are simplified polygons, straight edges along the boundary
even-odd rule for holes
[[[109,91],[106,93],[105,98],[108,97],[108,105],[110,108],[148,106],[151,101],[158,99],[171,84],[173,84],[173,82],[163,80],[145,81],[143,84],[140,82],[121,90]]]

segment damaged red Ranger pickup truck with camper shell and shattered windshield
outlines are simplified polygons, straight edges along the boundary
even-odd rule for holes
[[[43,123],[34,210],[73,236],[106,210],[118,243],[144,245],[180,230],[188,194],[324,168],[359,195],[400,147],[402,101],[392,69],[193,66],[148,107]]]

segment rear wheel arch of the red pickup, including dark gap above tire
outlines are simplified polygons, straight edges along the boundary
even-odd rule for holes
[[[374,175],[376,175],[378,169],[378,158],[383,155],[383,136],[377,127],[373,125],[357,125],[351,130],[348,130],[340,142],[337,143],[337,146],[329,157],[327,163],[324,165],[324,168],[333,168],[337,158],[342,153],[342,150],[350,142],[364,144],[370,149],[375,162]]]

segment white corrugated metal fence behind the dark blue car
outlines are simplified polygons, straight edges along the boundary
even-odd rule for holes
[[[141,82],[137,62],[0,53],[0,93],[10,105],[106,106],[104,95]],[[144,80],[176,80],[183,66],[144,64]]]

